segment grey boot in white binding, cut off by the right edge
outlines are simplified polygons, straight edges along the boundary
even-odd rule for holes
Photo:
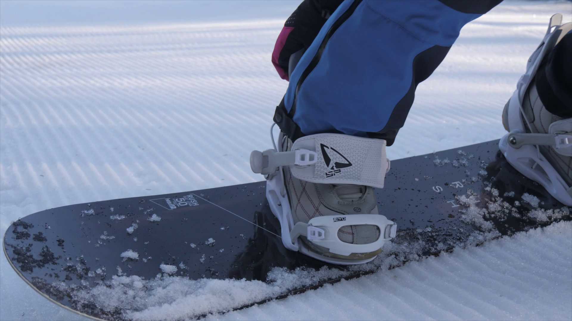
[[[550,19],[546,36],[531,55],[526,73],[505,106],[502,122],[509,134],[501,139],[499,147],[519,172],[572,206],[572,118],[563,119],[546,110],[538,97],[535,78],[543,58],[572,29],[572,23],[561,23],[561,14]]]

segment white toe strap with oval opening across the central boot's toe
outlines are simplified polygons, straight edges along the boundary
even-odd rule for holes
[[[340,227],[348,225],[374,225],[379,228],[378,240],[368,244],[351,244],[341,241],[337,236]],[[379,250],[383,244],[395,238],[397,224],[386,216],[375,214],[352,214],[340,216],[317,216],[308,224],[298,222],[290,232],[292,240],[300,235],[321,247],[327,248],[333,254],[350,255],[352,253],[368,253]]]

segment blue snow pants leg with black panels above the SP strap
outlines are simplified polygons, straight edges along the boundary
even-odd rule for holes
[[[293,71],[274,121],[295,140],[317,133],[386,139],[403,127],[416,86],[460,29],[501,0],[347,0]]]

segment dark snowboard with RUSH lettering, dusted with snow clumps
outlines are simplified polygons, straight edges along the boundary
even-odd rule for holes
[[[90,318],[124,320],[132,317],[121,306],[90,302],[86,291],[112,289],[122,276],[133,275],[271,283],[276,269],[293,275],[329,271],[272,296],[231,304],[228,311],[571,219],[569,207],[507,163],[498,141],[393,160],[376,197],[398,232],[378,258],[362,266],[286,250],[265,182],[51,208],[13,222],[3,250],[18,275],[45,298]]]

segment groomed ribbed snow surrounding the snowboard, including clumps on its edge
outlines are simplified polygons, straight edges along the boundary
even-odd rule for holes
[[[268,128],[287,83],[269,59],[296,6],[0,2],[0,236],[11,221],[45,208],[260,180],[248,156],[270,146]],[[502,107],[550,15],[570,21],[571,9],[570,2],[505,1],[464,27],[418,87],[388,156],[501,137]],[[124,259],[137,259],[125,250]],[[185,267],[157,268],[168,275]],[[136,319],[185,319],[331,272],[277,271],[276,282],[264,284],[155,282],[118,271],[115,290],[128,287],[133,296],[102,288],[98,297],[132,304]],[[566,222],[206,319],[572,320],[571,303]],[[84,318],[31,290],[1,255],[0,319]]]

